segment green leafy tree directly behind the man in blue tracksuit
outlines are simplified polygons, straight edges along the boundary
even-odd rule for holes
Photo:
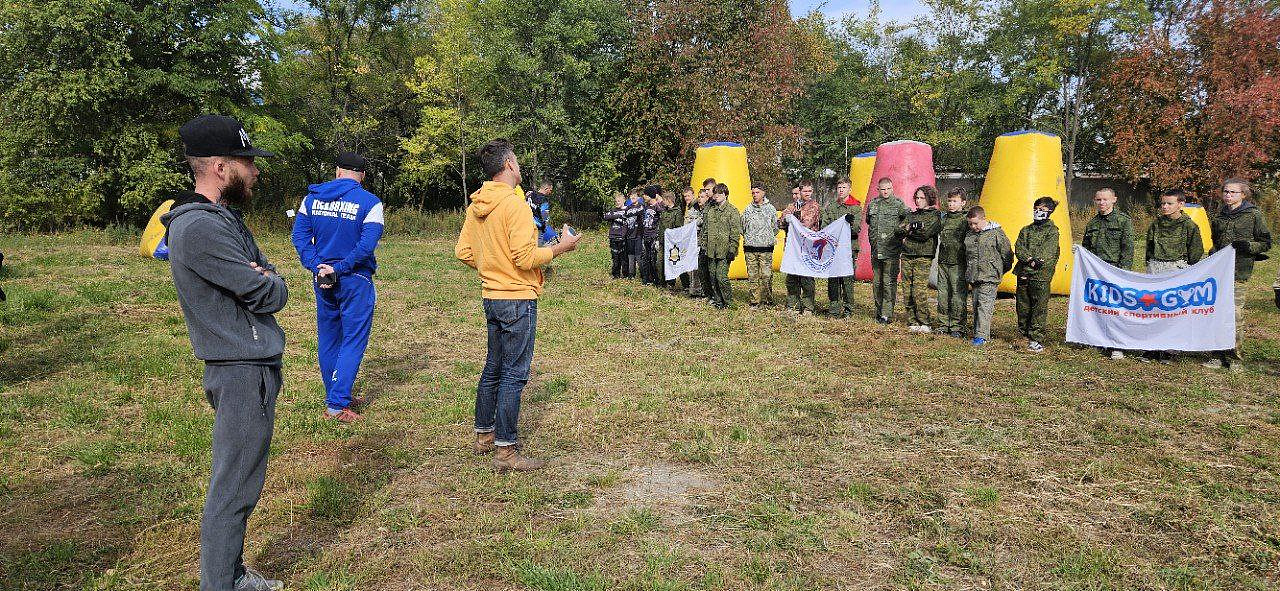
[[[419,128],[407,86],[431,40],[431,5],[416,0],[310,0],[271,29],[276,59],[262,74],[264,109],[302,138],[270,170],[264,197],[292,202],[328,180],[343,150],[372,165],[365,184],[388,205],[419,205],[401,142]]]

